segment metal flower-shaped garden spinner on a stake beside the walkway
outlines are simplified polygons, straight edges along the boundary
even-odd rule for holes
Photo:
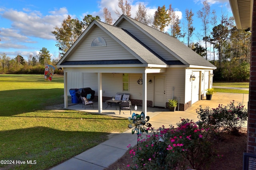
[[[141,136],[143,132],[148,133],[149,127],[152,126],[150,123],[148,123],[149,116],[145,117],[144,112],[141,112],[140,115],[132,113],[132,117],[128,117],[128,121],[130,122],[128,127],[132,128],[132,134],[134,134],[135,131],[137,133],[137,136],[138,136],[137,147],[138,147],[139,136]]]

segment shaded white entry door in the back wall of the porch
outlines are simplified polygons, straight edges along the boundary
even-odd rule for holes
[[[154,106],[166,106],[166,77],[155,76],[154,78]]]

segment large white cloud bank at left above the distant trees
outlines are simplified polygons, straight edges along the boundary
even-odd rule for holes
[[[28,39],[28,37],[37,37],[42,39],[55,39],[51,31],[54,31],[54,27],[60,26],[62,20],[68,16],[66,8],[60,8],[59,10],[49,12],[52,15],[42,16],[38,11],[28,12],[17,11],[13,9],[5,10],[0,16],[12,22],[10,30],[16,30],[16,35],[20,34],[20,37]],[[10,38],[15,36],[9,35]],[[26,38],[25,38],[26,37]]]

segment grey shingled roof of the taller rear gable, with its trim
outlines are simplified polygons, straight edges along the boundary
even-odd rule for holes
[[[122,22],[122,20],[127,20],[135,27],[140,29],[140,31],[144,32],[148,37],[150,37],[153,41],[164,47],[168,50],[172,55],[174,55],[177,59],[182,61],[184,64],[196,65],[196,66],[206,66],[206,67],[214,67],[209,61],[198,55],[192,49],[184,45],[178,39],[167,35],[157,29],[154,29],[144,23],[136,21],[128,16],[122,15],[114,25],[118,26]]]

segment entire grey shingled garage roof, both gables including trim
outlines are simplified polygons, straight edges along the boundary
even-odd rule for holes
[[[137,29],[146,33],[148,37],[161,45],[164,49],[169,51],[178,61],[166,61],[155,53],[152,49],[147,47],[134,35],[125,29],[122,29],[116,25],[127,20],[136,26]],[[76,40],[76,42],[68,49],[66,54],[57,63],[57,66],[64,65],[100,65],[100,64],[131,64],[126,60],[104,60],[104,61],[67,61],[68,57],[77,49],[77,47],[84,41],[86,36],[94,30],[95,27],[100,27],[102,31],[107,33],[116,42],[118,42],[124,49],[130,52],[137,60],[134,60],[133,64],[154,64],[161,67],[167,67],[168,65],[192,65],[192,66],[205,66],[210,68],[216,68],[213,64],[206,61],[200,55],[186,47],[178,39],[171,37],[165,33],[162,33],[148,25],[140,23],[132,18],[122,15],[114,25],[109,25],[101,21],[92,21],[89,27],[82,33],[82,35]],[[144,66],[146,66],[144,65]]]

